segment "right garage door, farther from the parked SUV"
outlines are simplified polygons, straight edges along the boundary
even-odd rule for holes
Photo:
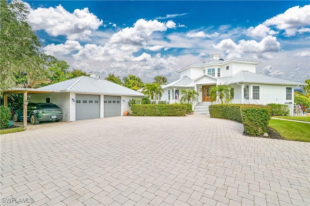
[[[106,96],[105,95],[104,116],[105,118],[121,116],[121,97],[120,96]]]

